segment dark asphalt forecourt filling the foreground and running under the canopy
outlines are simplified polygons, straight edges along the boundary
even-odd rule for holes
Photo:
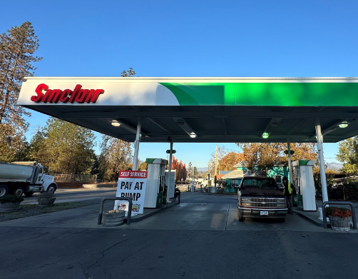
[[[58,213],[2,222],[1,278],[357,278],[357,233],[298,215],[242,223],[235,203],[183,193],[179,206],[116,228],[76,227],[92,223],[91,207],[62,211],[66,228]]]

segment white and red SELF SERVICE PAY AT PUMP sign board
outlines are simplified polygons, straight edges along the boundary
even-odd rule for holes
[[[132,214],[143,214],[147,171],[119,171],[116,197],[126,197],[132,200]],[[114,209],[126,210],[128,201],[116,201]]]

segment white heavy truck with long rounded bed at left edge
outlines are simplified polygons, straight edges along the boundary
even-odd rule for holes
[[[44,191],[54,193],[56,189],[53,176],[45,174],[39,163],[0,163],[0,198],[7,194],[30,197]]]

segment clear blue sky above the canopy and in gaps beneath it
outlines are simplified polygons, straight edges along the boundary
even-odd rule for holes
[[[0,33],[31,21],[44,57],[36,76],[119,76],[129,67],[138,76],[358,76],[357,9],[357,1],[3,1]],[[29,121],[31,137],[46,116]],[[139,156],[166,149],[144,143]],[[175,149],[205,167],[215,143]],[[335,161],[337,144],[324,153]]]

